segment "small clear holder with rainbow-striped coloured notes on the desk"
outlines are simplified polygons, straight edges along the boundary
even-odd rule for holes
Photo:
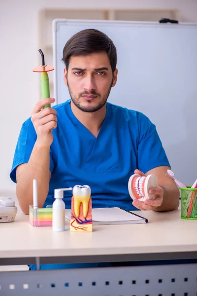
[[[52,226],[52,208],[33,209],[30,206],[30,223],[33,226]]]

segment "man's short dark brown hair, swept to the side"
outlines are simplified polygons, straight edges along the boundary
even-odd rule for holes
[[[95,29],[86,29],[73,35],[66,42],[62,61],[68,69],[71,56],[85,56],[100,51],[107,53],[114,72],[117,63],[116,47],[107,35]]]

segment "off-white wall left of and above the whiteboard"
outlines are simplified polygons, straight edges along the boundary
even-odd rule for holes
[[[197,22],[197,0],[0,0],[0,193],[13,191],[9,172],[19,131],[39,100],[38,12],[44,8],[176,8]]]

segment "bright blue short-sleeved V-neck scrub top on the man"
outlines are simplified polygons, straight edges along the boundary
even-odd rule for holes
[[[54,106],[58,126],[50,148],[51,180],[44,207],[54,201],[54,189],[89,185],[93,208],[122,207],[136,210],[128,191],[135,169],[146,173],[169,166],[155,125],[138,111],[106,104],[106,116],[95,138],[74,116],[70,100]],[[16,168],[29,161],[36,133],[31,118],[20,131],[10,178],[16,183]],[[64,192],[70,208],[72,191]]]

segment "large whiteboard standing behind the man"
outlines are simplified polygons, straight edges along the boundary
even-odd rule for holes
[[[117,48],[118,81],[108,102],[143,112],[156,125],[177,179],[197,179],[197,24],[53,21],[54,95],[69,99],[61,62],[66,41],[78,31],[104,32]]]

